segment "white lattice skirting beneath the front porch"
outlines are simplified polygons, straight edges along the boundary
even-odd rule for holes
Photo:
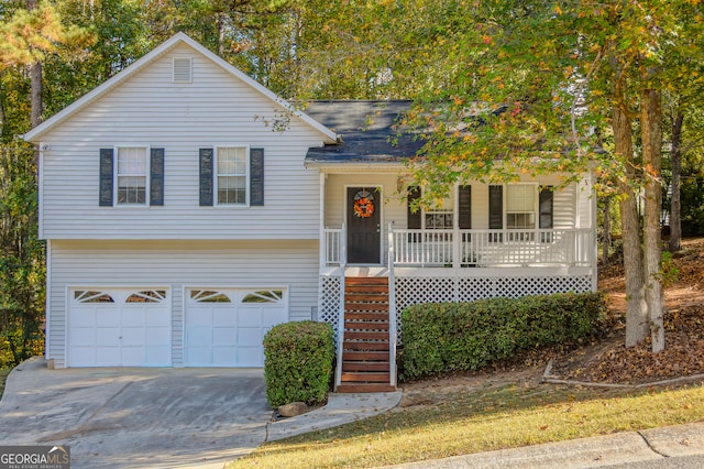
[[[396,277],[396,317],[419,303],[472,302],[481,298],[550,295],[565,292],[590,292],[592,277],[582,276],[492,276],[492,277]],[[332,325],[338,332],[340,277],[320,277],[318,320]]]

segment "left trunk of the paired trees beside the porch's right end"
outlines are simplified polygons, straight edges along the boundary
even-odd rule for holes
[[[625,179],[618,182],[620,198],[622,240],[626,273],[626,347],[634,347],[648,337],[648,307],[645,299],[645,273],[640,246],[638,200],[631,183],[636,179],[630,119],[617,106],[613,110],[615,151],[626,162]]]

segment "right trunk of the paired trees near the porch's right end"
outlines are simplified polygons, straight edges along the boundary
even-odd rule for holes
[[[644,246],[646,258],[646,302],[650,319],[653,353],[664,349],[663,296],[660,282],[662,242],[660,214],[662,212],[662,102],[660,92],[646,89],[642,94],[640,131],[642,164],[645,168],[646,210]]]

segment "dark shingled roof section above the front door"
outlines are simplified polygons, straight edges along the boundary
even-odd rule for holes
[[[306,165],[398,164],[414,156],[425,144],[413,133],[398,132],[398,123],[410,100],[319,100],[304,112],[340,140],[308,149]]]

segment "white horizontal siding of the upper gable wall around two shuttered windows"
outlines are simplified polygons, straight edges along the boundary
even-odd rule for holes
[[[195,57],[190,84],[173,83],[173,57]],[[285,130],[272,122],[289,119]],[[43,142],[41,236],[46,239],[317,239],[319,178],[304,165],[324,135],[275,109],[271,99],[180,44]],[[98,206],[99,151],[141,142],[165,151],[164,206]],[[262,148],[265,204],[223,217],[199,206],[199,149]],[[285,227],[285,229],[282,229]]]

